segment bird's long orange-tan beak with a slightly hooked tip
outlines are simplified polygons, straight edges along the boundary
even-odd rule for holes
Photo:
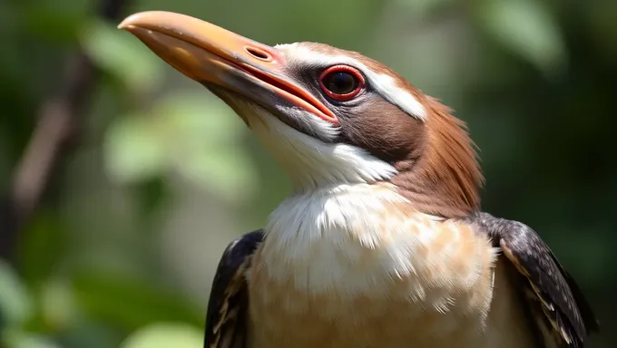
[[[171,12],[132,14],[119,28],[137,36],[162,60],[196,82],[236,92],[269,110],[287,103],[325,121],[338,122],[332,111],[285,74],[289,61],[274,47]]]

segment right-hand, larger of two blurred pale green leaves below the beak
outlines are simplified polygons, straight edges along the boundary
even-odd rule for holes
[[[201,93],[181,94],[170,96],[158,110],[175,130],[169,147],[173,168],[220,197],[250,195],[256,173],[242,146],[245,126],[227,105]]]

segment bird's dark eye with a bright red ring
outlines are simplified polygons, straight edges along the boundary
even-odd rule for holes
[[[334,100],[348,101],[362,91],[364,77],[350,66],[332,66],[319,76],[319,87]]]

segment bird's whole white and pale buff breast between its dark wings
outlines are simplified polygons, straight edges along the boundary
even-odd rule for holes
[[[484,330],[495,249],[391,188],[291,198],[266,231],[247,273],[255,346],[394,347]]]

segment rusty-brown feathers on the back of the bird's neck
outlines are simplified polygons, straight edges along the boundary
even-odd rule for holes
[[[426,97],[431,117],[426,121],[426,144],[420,155],[400,160],[390,181],[401,195],[427,214],[465,218],[480,208],[479,188],[484,176],[475,144],[465,123],[449,109]]]

